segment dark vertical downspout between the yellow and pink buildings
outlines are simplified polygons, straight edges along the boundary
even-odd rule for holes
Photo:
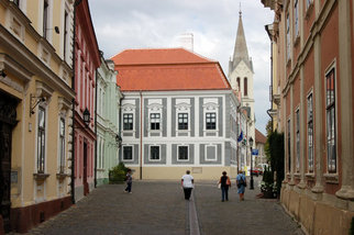
[[[75,44],[76,44],[76,8],[80,4],[82,0],[76,0],[74,2],[74,31],[73,31],[73,79],[71,79],[71,89],[75,91],[75,79],[76,79],[76,53],[75,53]],[[71,202],[75,204],[75,99],[73,99],[73,144],[71,144]]]

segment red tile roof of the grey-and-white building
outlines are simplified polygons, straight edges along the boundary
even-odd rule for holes
[[[122,91],[231,89],[218,61],[184,48],[125,49],[111,59]]]

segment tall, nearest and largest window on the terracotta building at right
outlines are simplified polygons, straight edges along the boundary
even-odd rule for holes
[[[336,171],[334,68],[325,76],[327,156],[329,172]]]

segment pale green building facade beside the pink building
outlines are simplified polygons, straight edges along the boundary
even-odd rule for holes
[[[123,98],[117,85],[112,60],[101,57],[97,69],[97,184],[108,183],[109,170],[118,165],[120,148],[119,116]]]

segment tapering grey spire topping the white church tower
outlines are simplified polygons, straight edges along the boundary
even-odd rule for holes
[[[241,60],[243,60],[253,71],[252,60],[248,57],[246,37],[244,35],[244,30],[243,30],[241,3],[240,3],[239,14],[240,14],[240,18],[239,18],[236,42],[235,42],[232,61],[230,61],[229,72],[232,72],[232,70],[236,68],[236,66]]]

